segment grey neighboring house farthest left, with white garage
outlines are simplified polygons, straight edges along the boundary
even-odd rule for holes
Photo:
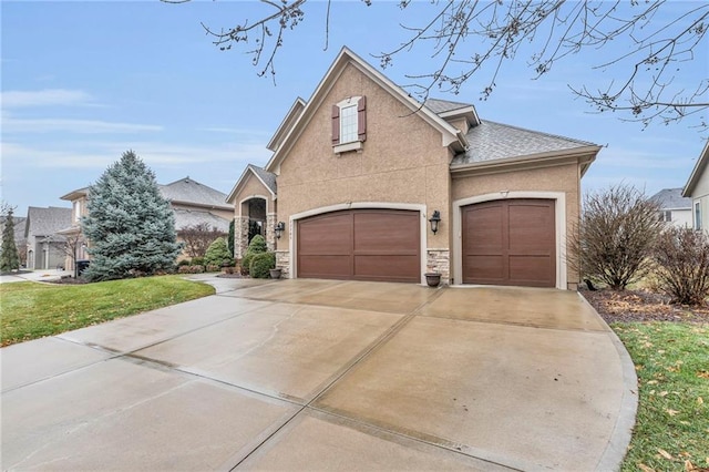
[[[66,238],[59,232],[71,224],[71,208],[28,208],[24,222],[28,269],[55,269],[66,266]]]

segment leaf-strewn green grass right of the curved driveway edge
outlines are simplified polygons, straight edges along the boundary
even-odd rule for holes
[[[639,384],[636,424],[621,470],[709,468],[709,325],[612,327],[633,358]]]

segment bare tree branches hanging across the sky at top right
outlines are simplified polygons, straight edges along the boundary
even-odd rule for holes
[[[162,0],[182,3],[188,0]],[[268,11],[256,21],[243,20],[236,27],[216,31],[203,23],[215,45],[230,50],[247,43],[258,75],[275,80],[275,58],[286,30],[297,28],[305,17],[307,0],[259,0]],[[367,6],[372,0],[362,0]],[[402,14],[411,0],[399,0]],[[325,49],[329,45],[330,13],[337,3],[327,1]],[[420,4],[417,4],[421,10]],[[572,85],[596,111],[624,112],[626,121],[645,125],[671,123],[687,116],[699,119],[709,109],[709,79],[696,78],[696,85],[680,83],[682,64],[706,53],[709,3],[670,0],[431,0],[430,17],[417,24],[402,24],[409,38],[398,47],[374,54],[380,66],[393,64],[397,57],[415,48],[428,48],[431,66],[411,73],[404,85],[422,102],[431,90],[459,93],[472,76],[481,81],[481,100],[496,88],[507,62],[527,55],[533,79],[548,74],[555,64],[582,51],[598,51],[621,43],[626,52],[606,57],[592,66],[614,80],[605,86]],[[419,16],[419,18],[421,18]],[[702,49],[703,48],[703,49]],[[614,51],[619,48],[614,48]],[[698,52],[697,52],[698,54]]]

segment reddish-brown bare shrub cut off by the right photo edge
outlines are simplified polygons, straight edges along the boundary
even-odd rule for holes
[[[671,302],[702,305],[709,296],[709,238],[703,232],[669,227],[655,248],[660,290]]]

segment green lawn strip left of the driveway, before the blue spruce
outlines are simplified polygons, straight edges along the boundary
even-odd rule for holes
[[[0,284],[2,346],[193,300],[214,287],[160,276],[83,285]]]

